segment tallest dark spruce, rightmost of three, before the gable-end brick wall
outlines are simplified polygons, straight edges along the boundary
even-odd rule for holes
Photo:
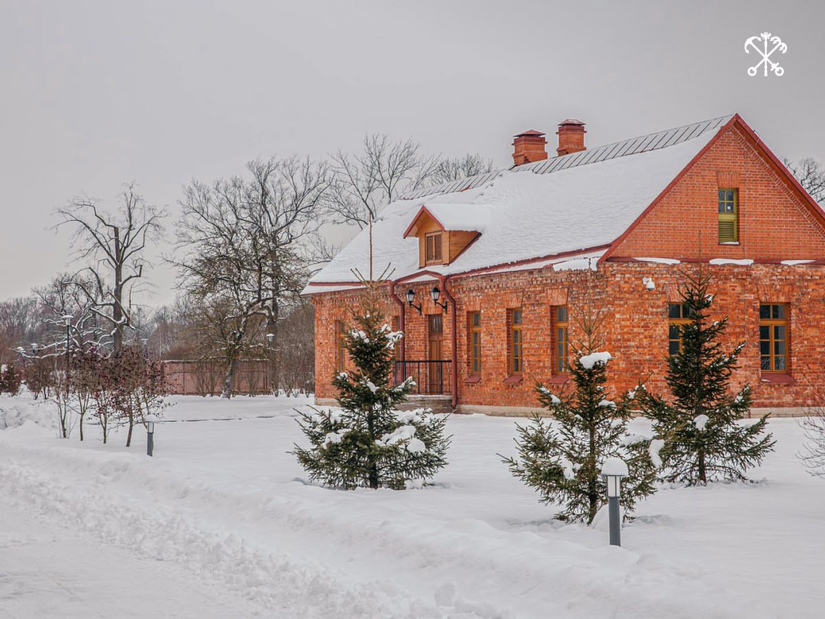
[[[642,391],[639,404],[653,421],[654,436],[664,441],[664,480],[688,485],[747,480],[745,471],[773,451],[775,441],[764,433],[768,415],[738,423],[751,407],[751,387],[733,395],[728,385],[745,343],[730,353],[722,350],[719,337],[728,319],[709,321],[711,276],[700,271],[686,277],[681,296],[691,322],[681,325],[681,350],[667,360],[672,398]]]

